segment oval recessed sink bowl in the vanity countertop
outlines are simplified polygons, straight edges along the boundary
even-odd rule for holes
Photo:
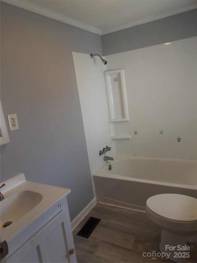
[[[6,222],[15,222],[30,212],[40,201],[42,195],[34,191],[20,191],[1,201],[1,228]]]

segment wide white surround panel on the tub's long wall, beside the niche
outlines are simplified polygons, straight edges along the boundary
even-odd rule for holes
[[[196,41],[104,57],[103,71],[124,68],[126,75],[130,123],[111,122],[110,132],[130,132],[131,139],[113,140],[116,154],[196,160]]]

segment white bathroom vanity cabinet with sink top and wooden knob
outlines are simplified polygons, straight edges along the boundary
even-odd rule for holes
[[[7,262],[77,262],[66,197],[70,189],[29,182],[20,174],[5,182],[1,193]]]

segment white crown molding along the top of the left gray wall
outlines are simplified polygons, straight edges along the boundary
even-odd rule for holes
[[[72,18],[67,17],[65,15],[62,15],[62,14],[58,14],[54,11],[51,11],[47,8],[38,6],[34,3],[30,4],[27,2],[21,2],[20,0],[1,0],[1,2],[5,2],[5,3],[13,5],[13,6],[18,6],[20,8],[26,9],[28,11],[44,15],[44,16],[52,18],[54,20],[69,24],[69,25],[74,26],[74,27],[81,28],[83,30],[86,30],[86,31],[89,31],[89,32],[92,32],[92,33],[95,33],[98,35],[101,35],[101,32],[102,32],[100,29],[98,29],[96,27],[89,26],[85,23],[79,22],[78,20],[72,19]]]

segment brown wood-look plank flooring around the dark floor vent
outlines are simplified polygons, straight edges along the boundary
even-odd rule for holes
[[[77,236],[90,216],[101,221],[88,239]],[[173,262],[143,257],[144,252],[160,252],[160,235],[161,228],[145,213],[98,203],[73,231],[77,262]],[[192,245],[190,262],[196,259],[197,248]]]

